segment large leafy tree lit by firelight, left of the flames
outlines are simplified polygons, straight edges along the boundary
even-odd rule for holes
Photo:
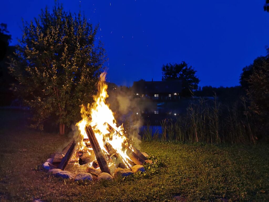
[[[32,127],[43,129],[44,120],[56,117],[64,134],[65,125],[79,119],[79,106],[91,102],[105,61],[96,32],[81,13],[59,4],[24,25],[9,69],[19,82],[13,89],[33,111]]]

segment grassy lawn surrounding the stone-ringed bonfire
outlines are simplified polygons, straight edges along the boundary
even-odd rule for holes
[[[0,201],[268,201],[269,145],[141,142],[164,163],[152,176],[77,183],[39,171],[69,139],[23,126],[1,111]]]

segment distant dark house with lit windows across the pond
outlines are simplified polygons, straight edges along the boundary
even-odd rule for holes
[[[178,100],[182,91],[181,81],[135,81],[134,97],[153,100]]]

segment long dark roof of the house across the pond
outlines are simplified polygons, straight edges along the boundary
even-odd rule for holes
[[[182,82],[174,81],[134,81],[134,93],[180,93],[182,90]]]

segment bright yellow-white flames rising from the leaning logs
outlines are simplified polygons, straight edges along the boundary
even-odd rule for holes
[[[131,165],[128,163],[129,156],[126,154],[126,148],[123,148],[122,145],[126,144],[127,139],[123,133],[124,128],[123,125],[117,127],[116,120],[114,118],[113,112],[109,109],[109,106],[105,103],[106,98],[108,97],[107,94],[107,84],[105,83],[105,76],[106,73],[103,72],[100,75],[100,80],[98,82],[98,93],[94,96],[94,103],[93,105],[82,106],[81,107],[81,116],[82,120],[79,121],[76,126],[78,126],[79,131],[83,138],[88,138],[85,127],[91,126],[93,128],[95,137],[100,145],[104,154],[108,154],[108,151],[105,149],[106,143],[109,143],[113,149],[122,157],[126,166]],[[108,125],[115,129],[114,134],[110,134],[108,131]],[[118,131],[119,133],[117,133]],[[85,142],[80,143],[82,149],[86,147]],[[132,146],[128,145],[131,149]],[[133,150],[133,149],[132,149]],[[128,164],[128,165],[127,165]]]

